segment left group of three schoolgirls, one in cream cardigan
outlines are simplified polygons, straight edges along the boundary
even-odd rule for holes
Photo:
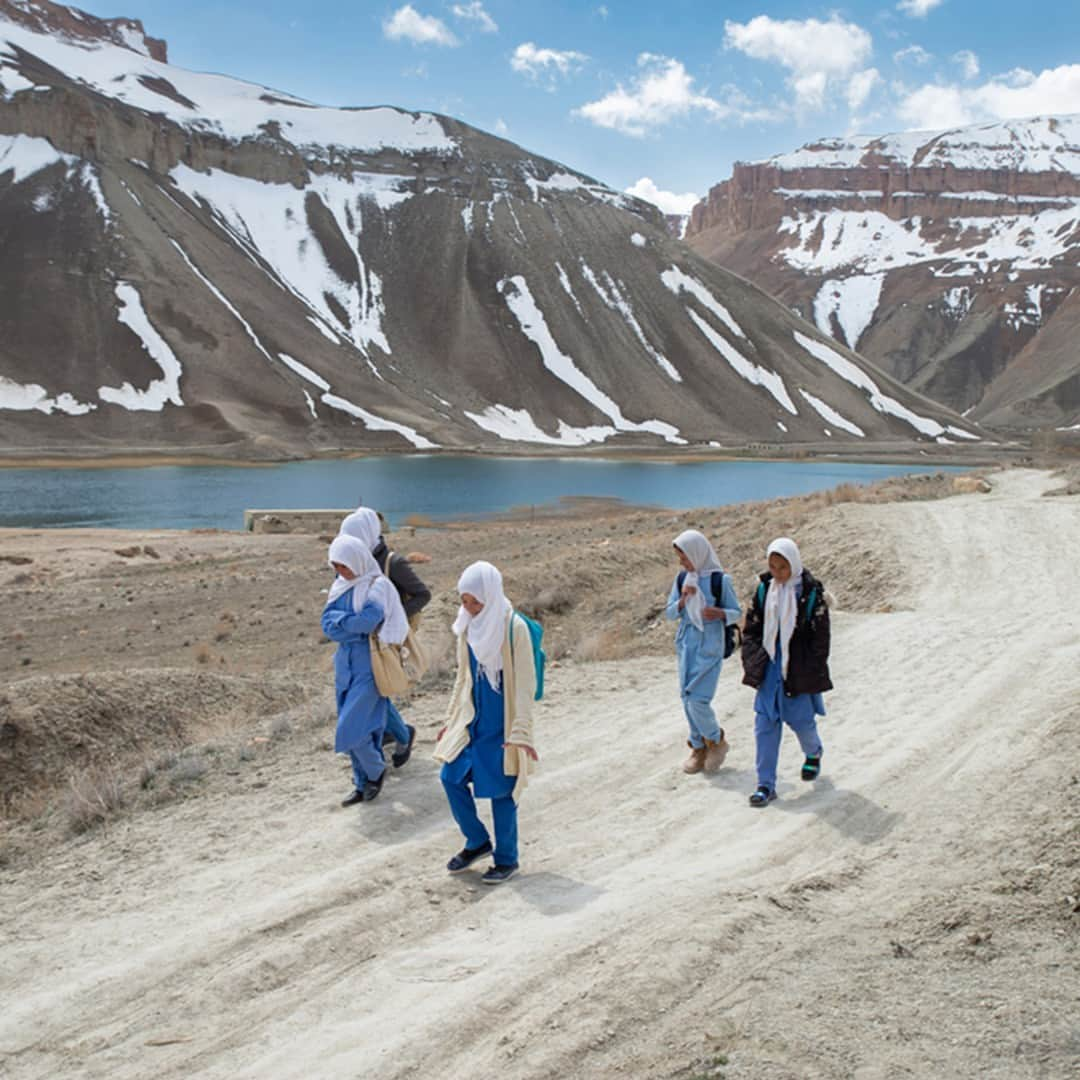
[[[391,761],[401,768],[416,740],[416,728],[405,724],[393,703],[379,693],[369,638],[403,644],[409,617],[415,619],[431,592],[408,559],[387,552],[378,514],[367,508],[345,519],[327,558],[337,572],[322,616],[323,633],[338,643],[334,748],[348,754],[352,762],[353,791],[342,806],[353,806],[373,801],[382,789],[388,768],[383,742],[395,742]],[[473,563],[461,575],[458,593],[457,678],[435,758],[442,762],[443,788],[465,842],[446,868],[458,874],[490,855],[483,880],[498,885],[518,866],[517,800],[537,760],[532,745],[537,665],[529,627],[515,617],[496,567]],[[476,798],[491,800],[494,845],[476,811]]]

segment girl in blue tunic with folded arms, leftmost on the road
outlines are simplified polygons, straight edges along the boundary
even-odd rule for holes
[[[400,645],[408,623],[397,590],[379,572],[372,553],[353,537],[339,536],[330,544],[330,566],[337,578],[323,609],[323,633],[338,643],[334,656],[334,687],[338,721],[334,750],[352,761],[353,791],[342,806],[370,802],[382,789],[386,761],[382,732],[387,699],[375,685],[368,637]]]

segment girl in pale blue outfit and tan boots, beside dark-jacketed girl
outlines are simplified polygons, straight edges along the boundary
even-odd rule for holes
[[[739,621],[742,608],[705,537],[687,529],[675,538],[674,548],[683,572],[672,585],[665,613],[678,620],[678,685],[690,729],[690,756],[683,771],[716,772],[727,757],[728,741],[716,723],[713,696],[724,664],[725,627]]]

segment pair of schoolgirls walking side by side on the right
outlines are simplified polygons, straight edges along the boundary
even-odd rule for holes
[[[742,609],[729,575],[713,545],[696,529],[675,538],[683,571],[672,585],[666,616],[678,620],[679,692],[690,729],[688,773],[716,772],[728,753],[724,729],[713,712],[713,696],[726,656],[734,649]],[[833,688],[828,674],[828,604],[822,583],[802,566],[794,540],[769,544],[768,570],[751,596],[742,626],[743,683],[754,687],[754,739],[757,788],[752,807],[777,797],[777,765],[786,724],[802,750],[802,780],[821,773],[818,717],[825,715],[822,693]]]

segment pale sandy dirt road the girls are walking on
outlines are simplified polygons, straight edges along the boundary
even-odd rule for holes
[[[0,889],[0,1075],[674,1076],[712,1051],[728,1077],[1057,1075],[1080,1051],[1075,940],[1052,987],[1039,956],[972,976],[971,1001],[960,977],[976,1018],[947,1037],[951,976],[931,995],[887,958],[891,919],[993,873],[1077,730],[1080,613],[1051,579],[1080,579],[1080,507],[1045,484],[850,508],[920,586],[837,615],[824,777],[799,783],[788,735],[766,811],[751,691],[725,671],[728,767],[684,778],[664,657],[552,673],[500,889],[441,873],[458,838],[426,755],[372,807],[337,809],[343,773],[310,753],[43,853]],[[987,996],[1039,1054],[985,1045]]]

